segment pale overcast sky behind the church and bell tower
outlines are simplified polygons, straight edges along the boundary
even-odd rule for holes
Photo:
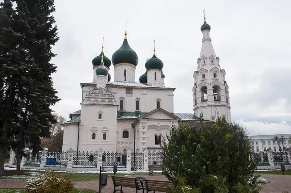
[[[291,133],[290,0],[55,0],[60,40],[53,48],[54,88],[62,100],[53,107],[69,120],[81,109],[81,82],[92,82],[92,59],[108,58],[125,32],[139,63],[164,64],[165,86],[175,87],[174,112],[193,113],[193,73],[202,46],[203,9],[221,68],[226,70],[231,116],[252,135]],[[114,77],[113,65],[109,73]]]

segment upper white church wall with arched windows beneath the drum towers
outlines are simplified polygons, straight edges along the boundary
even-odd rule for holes
[[[120,99],[124,100],[124,110],[136,111],[136,100],[140,101],[140,112],[151,112],[157,109],[157,101],[160,101],[162,109],[174,113],[173,90],[166,89],[141,89],[132,88],[132,94],[126,94],[125,87],[108,87],[115,97],[116,104],[120,105]],[[120,107],[118,107],[120,110]]]

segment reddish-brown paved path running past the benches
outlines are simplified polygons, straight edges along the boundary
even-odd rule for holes
[[[138,175],[145,177],[146,179],[157,179],[157,180],[168,180],[162,175]],[[129,176],[137,177],[137,176]],[[271,183],[263,185],[263,189],[260,193],[281,193],[282,191],[291,192],[291,176],[290,175],[271,175],[271,174],[261,174],[261,177],[268,179]],[[73,182],[75,188],[85,188],[98,192],[99,184],[98,181],[87,181],[87,182]],[[25,188],[25,181],[7,181],[0,180],[0,188]],[[135,193],[133,188],[124,188],[125,193]],[[112,179],[108,178],[107,186],[101,191],[101,193],[112,193],[113,192],[113,183]],[[158,193],[158,192],[156,192]]]

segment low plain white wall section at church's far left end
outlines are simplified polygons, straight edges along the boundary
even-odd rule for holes
[[[77,151],[78,141],[78,125],[67,124],[64,126],[64,139],[63,139],[63,151],[67,151],[69,148]]]

